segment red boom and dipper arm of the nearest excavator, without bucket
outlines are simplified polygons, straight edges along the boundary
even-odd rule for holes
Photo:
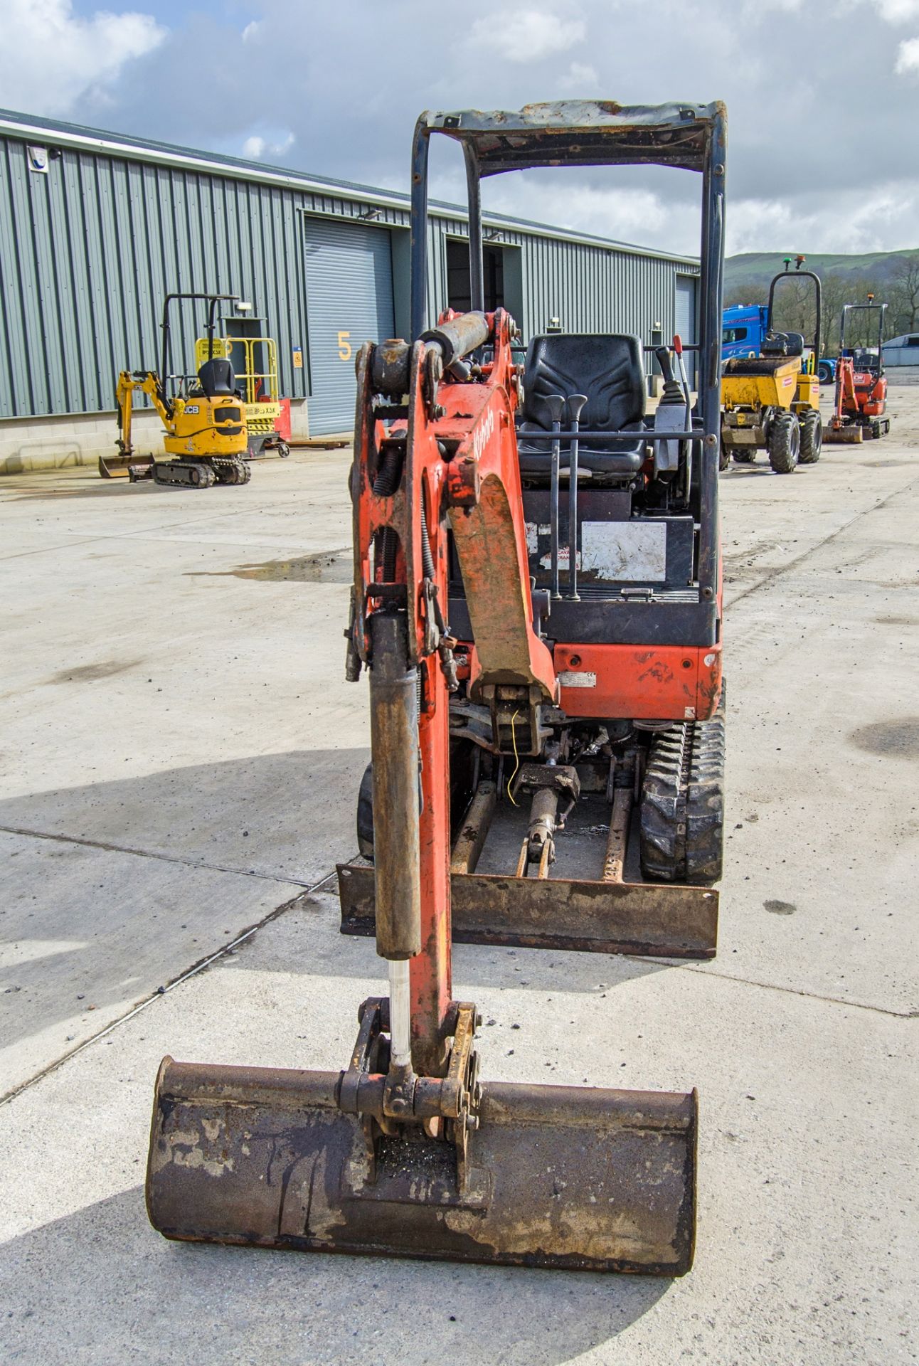
[[[391,964],[411,960],[408,990],[406,970],[391,967],[391,1009],[393,1027],[396,997],[411,1014],[421,1072],[442,1072],[453,1012],[448,529],[475,630],[474,690],[496,712],[515,703],[530,753],[538,708],[559,695],[533,630],[524,527],[512,511],[522,499],[511,325],[503,310],[445,314],[414,347],[367,344],[358,359],[350,675],[358,661],[370,669],[377,949]],[[487,342],[493,359],[474,382],[463,358]],[[456,372],[464,378],[451,382]]]

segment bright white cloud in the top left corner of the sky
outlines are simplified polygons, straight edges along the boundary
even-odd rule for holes
[[[71,0],[7,0],[0,90],[7,108],[72,113],[81,97],[104,93],[127,61],[157,48],[167,29],[153,15],[74,14]]]

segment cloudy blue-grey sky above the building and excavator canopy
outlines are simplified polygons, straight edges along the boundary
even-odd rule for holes
[[[919,247],[919,0],[137,4],[5,0],[0,104],[407,190],[423,108],[721,98],[732,253]],[[457,198],[457,150],[433,171],[434,191]],[[696,184],[534,172],[485,198],[692,251]]]

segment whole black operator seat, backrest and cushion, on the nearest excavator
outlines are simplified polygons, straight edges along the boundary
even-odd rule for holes
[[[527,443],[528,432],[552,432],[546,399],[584,393],[580,415],[578,469],[594,475],[631,475],[645,463],[645,365],[642,343],[625,333],[541,333],[527,348],[523,374],[523,408],[518,428],[522,474],[552,471],[548,441]],[[561,429],[568,425],[563,413]],[[635,437],[609,440],[591,432],[635,432]],[[568,469],[568,443],[561,443],[560,464]]]

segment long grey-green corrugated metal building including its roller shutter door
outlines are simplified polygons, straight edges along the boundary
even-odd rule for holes
[[[485,225],[486,306],[524,337],[559,318],[692,339],[695,261],[503,214]],[[157,366],[176,290],[251,301],[295,430],[347,430],[354,352],[407,331],[407,229],[403,194],[0,112],[0,469],[48,463],[55,432],[64,460],[111,445],[116,374]],[[468,302],[463,212],[434,204],[429,231],[433,317]],[[186,311],[175,357],[191,361],[201,321]]]

